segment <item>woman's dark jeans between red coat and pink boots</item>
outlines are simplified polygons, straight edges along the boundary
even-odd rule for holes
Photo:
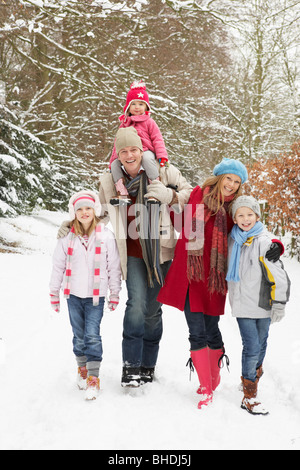
[[[189,292],[186,296],[184,313],[189,328],[191,351],[197,351],[206,346],[210,349],[222,349],[223,339],[219,330],[219,316],[191,312]]]

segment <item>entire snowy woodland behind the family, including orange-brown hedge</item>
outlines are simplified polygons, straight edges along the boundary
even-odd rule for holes
[[[196,185],[223,157],[243,161],[265,223],[300,259],[299,6],[0,0],[0,217],[96,189],[144,80],[171,162]]]

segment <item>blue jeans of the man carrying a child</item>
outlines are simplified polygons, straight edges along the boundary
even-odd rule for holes
[[[161,265],[166,276],[171,261]],[[127,258],[128,300],[123,322],[122,354],[126,367],[155,367],[162,337],[162,309],[157,302],[160,284],[148,286],[144,260]]]

